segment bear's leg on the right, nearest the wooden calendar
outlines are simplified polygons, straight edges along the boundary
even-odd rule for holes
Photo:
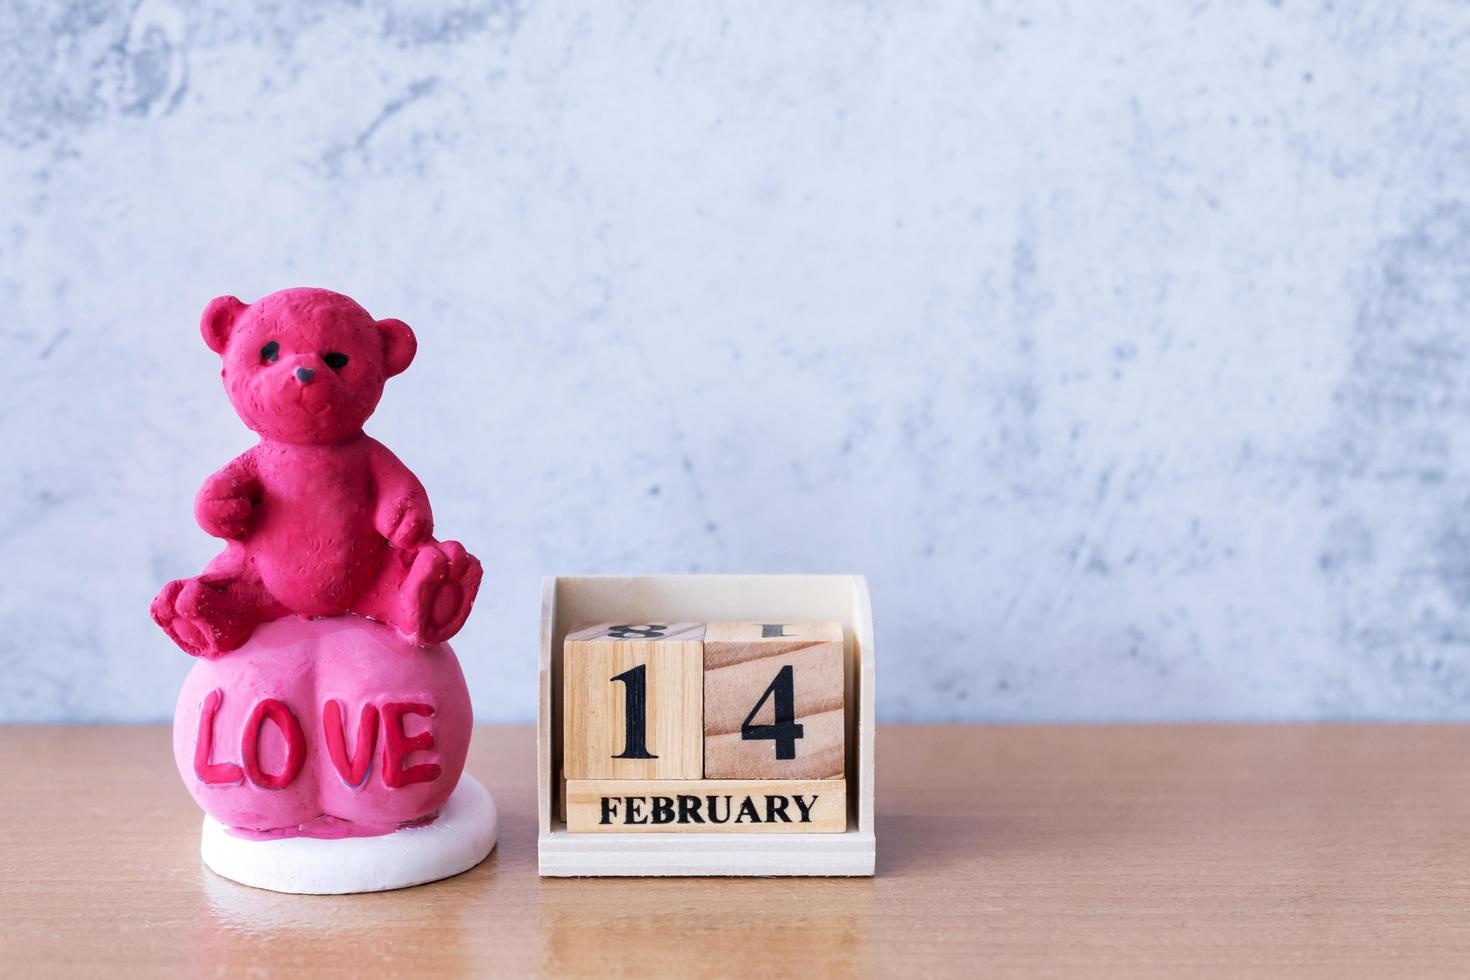
[[[378,583],[354,611],[432,646],[465,624],[481,576],[479,560],[457,541],[429,541],[412,554],[390,554]]]

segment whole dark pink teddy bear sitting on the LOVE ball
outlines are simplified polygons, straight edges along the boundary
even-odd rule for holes
[[[422,646],[457,633],[479,561],[434,539],[423,486],[363,433],[387,379],[413,361],[409,325],[328,289],[282,289],[248,306],[219,297],[200,331],[260,442],[204,480],[194,516],[225,550],[163,586],[154,621],[210,658],[293,613],[357,613]]]

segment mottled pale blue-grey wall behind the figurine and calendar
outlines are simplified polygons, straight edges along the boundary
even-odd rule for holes
[[[1470,718],[1467,93],[1429,1],[6,3],[0,717],[169,716],[198,313],[313,284],[482,718],[651,570],[866,573],[886,720]]]

